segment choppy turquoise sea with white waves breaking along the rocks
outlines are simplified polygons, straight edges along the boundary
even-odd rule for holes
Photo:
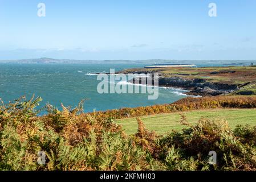
[[[224,66],[220,61],[189,63],[196,64],[197,67]],[[38,109],[48,103],[60,110],[61,104],[74,108],[81,100],[87,99],[84,103],[84,111],[91,112],[122,107],[170,104],[187,97],[188,90],[166,87],[159,87],[159,97],[156,100],[148,100],[148,93],[101,94],[97,92],[97,85],[101,80],[97,80],[95,73],[107,73],[111,68],[115,71],[143,68],[145,65],[148,64],[0,63],[0,98],[7,104],[21,96],[29,99],[35,94],[35,97],[43,98]]]

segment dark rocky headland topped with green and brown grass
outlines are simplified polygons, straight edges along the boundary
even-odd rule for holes
[[[248,69],[246,69],[248,68]],[[127,69],[118,73],[159,74],[159,86],[190,90],[188,95],[218,96],[227,94],[254,94],[254,90],[243,90],[255,85],[256,69],[245,67],[220,68],[167,68],[167,69]],[[141,84],[141,77],[129,80]],[[152,83],[153,84],[153,83]]]

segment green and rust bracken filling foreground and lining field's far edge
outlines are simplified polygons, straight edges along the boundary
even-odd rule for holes
[[[156,108],[168,112],[197,107],[251,108],[256,104],[254,97],[230,98],[216,102],[210,98],[188,102],[188,98]],[[111,111],[102,117],[102,112],[83,114],[82,103],[75,109],[63,106],[62,111],[46,105],[48,114],[39,117],[39,102],[40,98],[22,97],[0,106],[1,170],[256,169],[256,127],[237,126],[232,131],[222,119],[200,119],[192,126],[183,116],[180,125],[186,128],[162,137],[147,130],[137,118],[137,133],[127,135],[115,118],[109,117]],[[187,104],[182,107],[184,102]],[[149,114],[148,109],[143,111]],[[127,111],[132,110],[115,111],[113,116],[125,117],[122,114]],[[37,163],[39,151],[46,154],[45,164]],[[210,151],[216,151],[217,164],[209,163]]]

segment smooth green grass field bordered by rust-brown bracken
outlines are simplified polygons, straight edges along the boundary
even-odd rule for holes
[[[165,134],[174,130],[181,130],[184,125],[180,124],[181,115],[185,115],[190,124],[195,124],[204,117],[209,119],[222,118],[229,122],[229,126],[236,125],[256,125],[256,109],[209,109],[194,110],[179,113],[156,114],[140,117],[149,130],[156,131],[157,134]],[[136,118],[119,119],[117,123],[123,126],[125,133],[134,134],[137,131]]]

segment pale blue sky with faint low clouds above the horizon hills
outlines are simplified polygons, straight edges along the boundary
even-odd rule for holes
[[[256,60],[256,1],[0,0],[0,60],[38,57]]]

